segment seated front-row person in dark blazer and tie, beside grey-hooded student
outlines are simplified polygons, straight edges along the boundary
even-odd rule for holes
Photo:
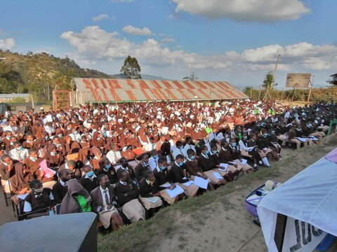
[[[110,186],[110,180],[107,175],[100,174],[98,176],[100,186],[91,191],[91,208],[98,214],[99,221],[104,228],[112,227],[117,230],[124,225],[121,216],[117,211],[117,198],[114,195],[114,187]]]

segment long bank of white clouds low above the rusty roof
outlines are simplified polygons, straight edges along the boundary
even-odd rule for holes
[[[82,62],[121,62],[126,56],[132,55],[137,57],[142,69],[162,69],[163,72],[168,71],[173,75],[180,74],[182,70],[188,73],[193,69],[204,72],[205,76],[212,76],[210,73],[215,74],[214,76],[219,76],[220,73],[226,76],[232,74],[233,79],[234,76],[244,78],[248,73],[263,76],[274,69],[277,54],[282,55],[278,71],[332,71],[337,64],[336,45],[312,45],[307,42],[286,46],[265,45],[242,52],[226,51],[218,55],[200,55],[185,52],[178,47],[170,49],[154,38],[133,43],[126,38],[120,38],[117,32],[107,32],[98,26],[85,27],[79,33],[66,31],[61,38],[74,46],[76,50],[73,57]]]

